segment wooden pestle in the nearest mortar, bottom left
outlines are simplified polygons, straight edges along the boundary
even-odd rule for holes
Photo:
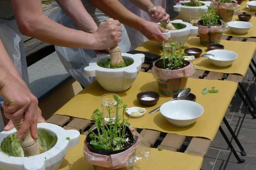
[[[23,116],[18,120],[12,120],[14,127],[18,131],[23,123]],[[38,140],[34,140],[31,136],[30,130],[28,130],[25,135],[20,139],[21,147],[24,152],[25,157],[38,155],[44,152],[44,149],[40,146]]]

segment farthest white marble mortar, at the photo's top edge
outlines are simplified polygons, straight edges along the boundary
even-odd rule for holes
[[[190,23],[190,15],[192,14],[200,14],[200,11],[208,11],[207,6],[210,6],[211,1],[200,1],[204,3],[203,6],[184,6],[183,3],[190,2],[190,1],[180,1],[176,5],[173,6],[174,11],[179,12],[179,16],[185,22]]]

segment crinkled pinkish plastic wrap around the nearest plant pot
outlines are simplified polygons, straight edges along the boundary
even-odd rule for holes
[[[142,160],[149,158],[149,144],[141,137],[141,135],[132,127],[129,127],[134,137],[132,147],[127,150],[113,154],[102,155],[93,153],[88,148],[88,143],[84,142],[84,158],[92,165],[105,167],[107,169],[130,168],[138,165]]]

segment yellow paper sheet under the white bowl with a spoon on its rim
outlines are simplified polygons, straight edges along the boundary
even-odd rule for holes
[[[234,63],[226,68],[216,67],[211,64],[208,58],[200,57],[195,59],[192,64],[196,69],[220,72],[220,73],[237,73],[241,75],[245,75],[251,59],[253,57],[256,43],[255,42],[238,42],[238,41],[228,41],[221,40],[220,42],[224,45],[226,50],[235,51],[238,54],[238,58],[234,61]],[[183,49],[197,47],[203,50],[203,53],[207,52],[207,47],[203,46],[199,43],[199,37],[189,37],[188,41],[184,44]],[[136,48],[136,50],[146,51],[154,54],[160,55],[161,47],[157,42],[147,41],[143,43],[140,47]]]

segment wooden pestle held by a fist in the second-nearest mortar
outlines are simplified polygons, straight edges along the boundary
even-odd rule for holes
[[[113,18],[106,19],[106,21],[111,21],[111,20],[114,20],[114,19]],[[110,55],[110,68],[117,65],[125,66],[124,59],[121,55],[120,47],[118,47],[117,44],[109,49],[109,55]]]

